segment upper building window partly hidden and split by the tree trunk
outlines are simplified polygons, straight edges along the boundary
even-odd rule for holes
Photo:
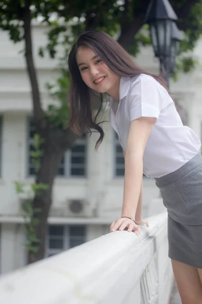
[[[28,175],[35,175],[36,165],[32,163],[30,152],[34,150],[35,127],[33,120],[28,120]],[[64,177],[86,177],[87,172],[87,136],[84,134],[79,138],[74,147],[65,151],[58,167],[58,176]]]

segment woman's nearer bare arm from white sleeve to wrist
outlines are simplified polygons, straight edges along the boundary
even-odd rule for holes
[[[155,118],[133,120],[125,152],[124,197],[121,216],[135,219],[143,174],[144,148],[155,123]]]

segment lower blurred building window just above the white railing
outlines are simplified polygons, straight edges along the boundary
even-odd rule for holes
[[[46,257],[86,242],[85,225],[49,225]]]

